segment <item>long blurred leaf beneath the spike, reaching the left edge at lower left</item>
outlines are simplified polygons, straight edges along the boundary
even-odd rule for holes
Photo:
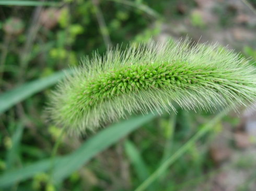
[[[65,177],[82,167],[91,158],[99,154],[99,152],[113,145],[121,137],[129,134],[155,117],[156,114],[150,113],[146,116],[133,117],[129,120],[113,124],[109,128],[89,138],[88,141],[72,154],[64,157],[56,157],[52,174],[53,181],[62,181]],[[27,180],[35,174],[49,170],[50,165],[51,160],[46,159],[15,171],[6,172],[0,176],[0,187],[6,187],[17,181]]]

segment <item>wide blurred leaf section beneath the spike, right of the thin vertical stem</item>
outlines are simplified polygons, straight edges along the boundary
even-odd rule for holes
[[[53,172],[54,180],[57,182],[63,180],[69,174],[82,167],[85,162],[88,162],[99,152],[108,148],[123,136],[139,128],[139,126],[145,122],[152,120],[154,117],[156,117],[156,115],[153,113],[150,113],[147,116],[134,117],[130,120],[123,121],[122,123],[114,124],[111,128],[99,132],[94,138],[89,139],[86,144],[67,156],[65,160],[57,163]]]

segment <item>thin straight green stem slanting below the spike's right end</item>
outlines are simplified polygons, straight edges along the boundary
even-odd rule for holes
[[[145,190],[150,184],[152,184],[154,181],[158,179],[158,177],[164,173],[170,165],[175,162],[178,158],[180,158],[190,147],[193,145],[196,141],[198,141],[203,135],[205,135],[207,132],[209,132],[213,125],[218,122],[220,119],[223,118],[223,116],[230,110],[230,108],[227,108],[223,110],[222,112],[219,112],[217,116],[215,116],[211,121],[206,123],[202,126],[202,128],[189,139],[187,143],[185,143],[179,150],[177,150],[172,156],[170,156],[165,162],[163,162],[158,169],[151,174],[141,185],[139,185],[135,191],[143,191]]]

